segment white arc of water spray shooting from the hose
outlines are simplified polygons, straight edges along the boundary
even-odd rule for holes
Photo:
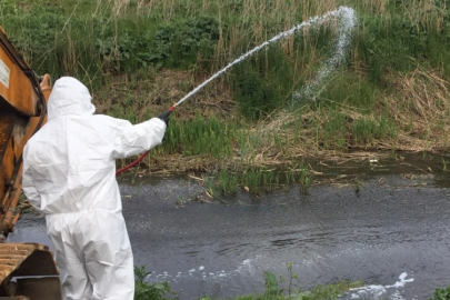
[[[271,44],[272,42],[276,42],[282,38],[292,36],[296,31],[302,29],[303,27],[307,26],[321,26],[324,21],[329,20],[330,18],[339,18],[341,20],[341,24],[339,28],[339,38],[338,42],[336,44],[336,51],[334,54],[323,64],[323,67],[319,70],[318,76],[316,79],[307,86],[303,92],[294,92],[293,93],[293,99],[298,99],[301,97],[301,94],[309,94],[311,93],[312,90],[334,69],[344,58],[346,49],[350,43],[350,36],[351,31],[354,28],[357,23],[356,19],[356,13],[354,10],[349,8],[349,7],[340,7],[337,10],[332,10],[327,12],[323,16],[316,16],[309,19],[308,21],[304,21],[300,24],[294,26],[290,30],[283,31],[270,40],[261,43],[258,47],[254,47],[247,53],[242,54],[241,57],[237,58],[232,62],[230,62],[227,67],[214,73],[212,77],[207,79],[203,83],[194,88],[192,91],[190,91],[188,94],[186,94],[180,101],[178,101],[176,104],[173,104],[170,110],[173,110],[176,107],[184,102],[187,99],[196,94],[199,90],[201,90],[204,86],[207,86],[209,82],[212,80],[219,78],[222,73],[227,72],[231,67],[234,64],[241,62],[242,60],[247,59],[248,57],[254,54],[259,50],[266,48],[267,46]]]

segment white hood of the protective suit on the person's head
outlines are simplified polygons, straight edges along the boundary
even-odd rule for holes
[[[48,103],[49,120],[61,116],[90,116],[96,111],[88,88],[72,77],[54,82]]]

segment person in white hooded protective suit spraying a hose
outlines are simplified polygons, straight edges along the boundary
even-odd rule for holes
[[[48,123],[23,150],[23,192],[46,213],[66,300],[132,300],[133,256],[116,159],[161,143],[170,111],[136,126],[93,112],[80,81],[54,82]]]

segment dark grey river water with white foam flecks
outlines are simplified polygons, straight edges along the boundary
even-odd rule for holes
[[[122,178],[136,264],[181,299],[262,292],[263,271],[288,277],[288,262],[306,289],[364,281],[343,299],[428,299],[450,283],[446,159],[314,162],[326,183],[308,196],[293,186],[221,203],[196,201],[202,189],[189,178],[148,177],[134,186]],[[37,214],[24,216],[9,239],[49,243]]]

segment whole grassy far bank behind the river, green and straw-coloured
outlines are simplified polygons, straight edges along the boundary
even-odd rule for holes
[[[223,172],[246,173],[227,177],[243,187],[254,170],[270,176],[307,157],[449,147],[450,1],[0,3],[1,26],[38,73],[79,78],[98,112],[133,123],[279,32],[340,6],[354,9],[344,60],[320,84],[298,97],[333,54],[336,20],[258,51],[183,102],[141,164],[152,172],[207,171],[221,182]],[[303,169],[291,169],[301,178]]]

